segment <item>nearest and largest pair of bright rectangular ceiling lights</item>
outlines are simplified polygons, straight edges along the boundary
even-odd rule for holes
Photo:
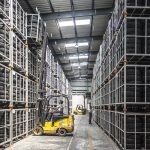
[[[83,26],[83,25],[89,25],[90,19],[84,19],[84,20],[76,20],[75,24],[77,26]],[[72,21],[59,21],[60,27],[68,27],[68,26],[74,26],[74,22]]]

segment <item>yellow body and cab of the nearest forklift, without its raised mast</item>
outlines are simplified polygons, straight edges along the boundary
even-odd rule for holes
[[[44,106],[45,109],[39,111],[39,121],[33,130],[34,135],[57,134],[65,136],[74,131],[74,116],[70,115],[69,111],[67,114],[63,113],[63,101],[60,100],[59,105],[51,103],[52,100],[55,100],[53,98],[61,96],[67,98],[65,95],[50,95],[47,98],[48,103]]]

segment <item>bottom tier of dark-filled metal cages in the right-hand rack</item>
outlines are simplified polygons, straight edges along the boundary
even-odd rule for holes
[[[118,144],[120,149],[150,148],[150,114],[96,110],[97,124]]]

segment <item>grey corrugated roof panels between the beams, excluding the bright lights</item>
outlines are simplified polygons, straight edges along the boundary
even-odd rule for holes
[[[23,6],[24,10],[31,12],[32,10],[29,8],[28,3],[26,0],[19,0],[21,5]],[[28,0],[31,7],[35,10],[36,7],[41,13],[55,13],[59,12],[60,14],[66,11],[72,10],[74,8],[75,11],[78,10],[91,10],[92,9],[92,2],[93,0],[72,0],[73,6],[71,7],[71,0]],[[110,8],[113,6],[114,0],[94,0],[94,8],[95,9],[103,9],[103,8]],[[54,9],[54,12],[52,12],[51,7]],[[69,12],[68,12],[69,13]],[[91,36],[99,36],[102,37],[104,34],[108,20],[110,18],[110,15],[96,15],[93,16],[93,24],[91,28],[90,25],[83,25],[83,26],[76,26],[77,36],[75,35],[75,27],[69,26],[69,27],[59,27],[58,22],[59,21],[73,21],[73,18],[61,18],[60,20],[49,20],[47,21],[47,31],[49,33],[50,39],[55,39],[56,41],[59,40],[59,43],[53,42],[53,49],[56,54],[59,54],[59,60],[60,63],[65,64],[63,65],[63,69],[72,72],[68,72],[68,75],[73,76],[79,76],[79,74],[87,75],[91,74],[94,64],[90,63],[86,66],[81,66],[80,72],[77,72],[77,67],[71,67],[69,64],[71,63],[77,63],[78,59],[76,60],[69,60],[68,54],[75,54],[78,52],[88,53],[90,52],[88,59],[80,59],[80,62],[87,62],[87,61],[95,61],[96,54],[91,54],[92,52],[97,52],[99,50],[100,44],[102,42],[102,39],[87,39],[86,37]],[[92,20],[91,16],[86,17],[75,17],[75,20],[83,20],[83,19],[90,19]],[[92,33],[91,32],[92,29]],[[62,34],[62,37],[61,37]],[[78,37],[83,37],[82,40],[78,40]],[[85,39],[84,39],[85,37]],[[62,39],[61,39],[62,38]],[[74,40],[69,40],[70,38],[74,38]],[[62,41],[61,41],[62,40]],[[66,40],[66,41],[65,41]],[[83,47],[70,47],[66,48],[66,43],[74,43],[74,42],[85,42],[87,41],[90,46],[83,46]],[[67,55],[66,55],[67,54]],[[76,70],[74,70],[76,69]],[[84,70],[85,69],[85,70]],[[76,73],[75,73],[76,72]]]

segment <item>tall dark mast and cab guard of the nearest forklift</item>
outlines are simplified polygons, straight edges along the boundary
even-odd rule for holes
[[[40,65],[40,75],[39,75],[39,88],[38,88],[38,98],[36,103],[36,122],[44,125],[48,113],[54,113],[57,111],[56,106],[53,105],[53,98],[64,97],[67,98],[67,105],[69,107],[69,100],[66,95],[46,95],[46,77],[47,77],[47,62],[46,62],[46,53],[48,45],[48,35],[45,30],[42,46],[42,56],[41,56],[41,65]],[[59,109],[60,108],[58,107]],[[68,109],[69,114],[69,109]]]

